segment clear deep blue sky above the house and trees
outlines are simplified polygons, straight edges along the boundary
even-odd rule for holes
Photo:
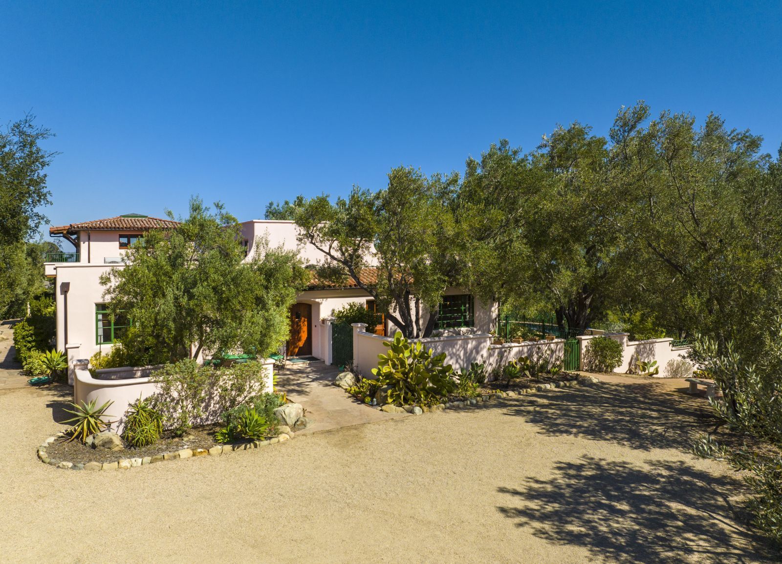
[[[0,2],[0,122],[61,152],[52,224],[378,188],[463,170],[639,99],[776,154],[780,2]]]

